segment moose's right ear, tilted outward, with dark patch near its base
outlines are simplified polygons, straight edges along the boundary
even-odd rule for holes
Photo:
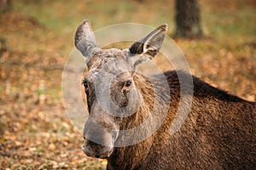
[[[166,30],[167,25],[161,25],[150,32],[146,37],[131,44],[129,51],[135,67],[148,59],[153,59],[154,56],[158,54],[166,37]]]

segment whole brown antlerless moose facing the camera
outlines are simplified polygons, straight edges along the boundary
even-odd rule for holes
[[[255,169],[255,102],[185,71],[166,71],[165,81],[137,71],[160,52],[166,30],[161,25],[130,48],[102,49],[88,20],[78,26],[74,44],[88,67],[82,82],[89,111],[84,154],[107,159],[108,170]],[[184,89],[192,99],[189,113],[171,133],[180,103],[187,102],[178,74],[192,77],[193,93]]]

